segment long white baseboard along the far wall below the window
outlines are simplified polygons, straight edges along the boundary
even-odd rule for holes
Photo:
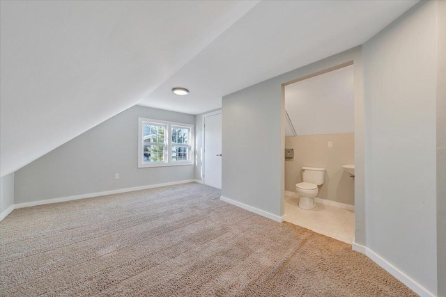
[[[19,208],[23,208],[23,207],[33,207],[36,205],[66,202],[66,201],[71,201],[71,200],[93,198],[93,197],[99,197],[99,196],[104,196],[104,195],[113,195],[113,194],[127,193],[127,192],[132,192],[132,191],[146,190],[148,188],[159,188],[161,186],[173,186],[176,184],[187,184],[190,182],[200,183],[200,181],[197,181],[195,179],[187,179],[187,180],[183,180],[180,182],[167,182],[164,184],[151,184],[148,186],[135,186],[133,188],[119,188],[117,190],[112,190],[112,191],[103,191],[103,192],[75,195],[75,196],[69,196],[69,197],[63,197],[63,198],[53,198],[53,199],[48,199],[48,200],[39,200],[39,201],[33,201],[33,202],[18,203],[18,204],[15,204],[15,208],[19,209]]]

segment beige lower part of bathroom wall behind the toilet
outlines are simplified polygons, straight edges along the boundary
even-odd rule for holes
[[[333,143],[328,148],[328,141]],[[294,158],[285,159],[285,191],[295,192],[295,184],[302,182],[302,167],[322,167],[325,182],[318,198],[355,204],[355,179],[342,166],[355,161],[355,134],[322,134],[289,136],[285,147],[294,149]]]

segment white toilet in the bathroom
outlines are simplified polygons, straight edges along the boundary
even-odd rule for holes
[[[325,168],[302,167],[303,182],[295,184],[295,191],[300,195],[301,209],[314,209],[314,198],[318,195],[318,186],[325,180]]]

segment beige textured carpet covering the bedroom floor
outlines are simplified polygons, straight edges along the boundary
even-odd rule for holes
[[[1,296],[417,296],[351,246],[183,184],[16,209]]]

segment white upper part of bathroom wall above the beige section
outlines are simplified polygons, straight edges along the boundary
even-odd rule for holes
[[[285,86],[285,110],[297,135],[353,133],[353,102],[353,65]],[[294,136],[289,128],[285,136]]]

